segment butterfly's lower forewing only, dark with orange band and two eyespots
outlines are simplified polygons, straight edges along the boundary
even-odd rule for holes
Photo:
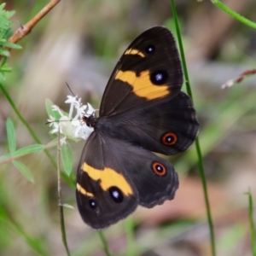
[[[121,172],[119,159],[94,131],[84,146],[76,189],[79,212],[94,229],[116,223],[137,207],[137,190]]]

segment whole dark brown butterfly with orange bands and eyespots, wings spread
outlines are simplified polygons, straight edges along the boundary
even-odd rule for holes
[[[199,123],[182,84],[175,39],[164,26],[143,32],[119,59],[99,117],[84,118],[94,131],[79,162],[76,198],[92,228],[174,198],[177,172],[154,153],[177,154],[195,141]]]

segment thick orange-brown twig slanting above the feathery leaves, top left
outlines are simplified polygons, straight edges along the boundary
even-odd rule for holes
[[[21,38],[24,38],[32,31],[32,28],[38,24],[45,15],[49,13],[51,9],[55,7],[61,0],[51,0],[43,9],[41,9],[37,15],[29,20],[25,25],[21,25],[16,32],[9,38],[9,43],[17,43]]]

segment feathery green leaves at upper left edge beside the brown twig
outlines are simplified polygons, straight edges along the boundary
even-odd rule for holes
[[[0,4],[0,74],[5,78],[5,73],[11,71],[11,67],[6,64],[6,60],[9,57],[8,49],[21,49],[19,44],[13,44],[8,42],[8,38],[12,35],[11,25],[9,20],[15,11],[4,10],[5,3]]]

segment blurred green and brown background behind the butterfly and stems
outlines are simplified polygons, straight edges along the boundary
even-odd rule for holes
[[[221,85],[256,68],[256,31],[239,23],[210,1],[177,2],[183,45],[208,180],[218,255],[251,255],[247,195],[256,197],[256,76],[227,90]],[[223,1],[256,21],[254,0]],[[14,31],[48,1],[8,0],[15,9]],[[12,50],[13,72],[1,82],[44,144],[49,127],[44,101],[64,102],[73,92],[99,108],[115,63],[138,34],[165,25],[175,34],[167,0],[63,0]],[[17,147],[33,144],[9,102],[0,94],[0,153],[7,152],[5,122],[15,122]],[[76,173],[84,142],[71,143]],[[55,157],[56,148],[50,153]],[[56,170],[44,153],[23,157],[35,177],[29,183],[13,166],[0,166],[0,255],[65,255],[57,206]],[[195,146],[171,158],[180,177],[175,200],[132,215],[135,255],[211,255],[206,207],[196,165]],[[75,194],[62,182],[67,241],[72,255],[104,255],[96,231],[76,209]],[[130,219],[131,221],[131,219]],[[125,222],[104,230],[113,255],[126,255]]]

